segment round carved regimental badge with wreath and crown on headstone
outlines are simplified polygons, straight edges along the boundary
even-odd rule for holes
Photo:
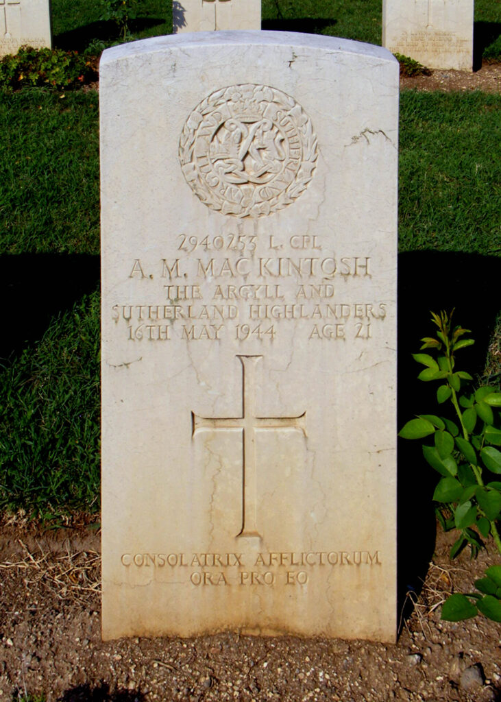
[[[221,88],[189,115],[179,145],[193,192],[224,215],[258,218],[306,189],[318,144],[298,102],[276,88]]]

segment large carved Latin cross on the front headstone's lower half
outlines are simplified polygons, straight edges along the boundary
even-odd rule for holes
[[[255,416],[255,366],[262,356],[237,356],[242,364],[242,411],[239,417],[199,417],[192,412],[192,437],[197,431],[239,430],[242,437],[242,528],[236,536],[260,536],[257,516],[255,432],[297,429],[306,436],[306,412],[297,417]]]

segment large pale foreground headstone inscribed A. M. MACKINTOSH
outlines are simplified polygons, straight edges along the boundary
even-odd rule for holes
[[[394,640],[398,83],[306,34],[103,54],[106,640]]]

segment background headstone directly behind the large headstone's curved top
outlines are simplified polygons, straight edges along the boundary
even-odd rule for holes
[[[173,32],[261,29],[261,0],[174,0]]]

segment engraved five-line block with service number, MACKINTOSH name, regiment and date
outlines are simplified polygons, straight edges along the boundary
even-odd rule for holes
[[[312,343],[366,344],[377,336],[388,303],[353,298],[347,286],[349,279],[378,275],[371,256],[327,256],[318,234],[259,239],[244,231],[254,230],[256,221],[236,224],[236,234],[179,234],[176,258],[130,260],[126,275],[145,297],[112,306],[112,318],[122,328],[126,323],[129,341],[265,345],[291,323]],[[279,256],[288,246],[293,255]]]

